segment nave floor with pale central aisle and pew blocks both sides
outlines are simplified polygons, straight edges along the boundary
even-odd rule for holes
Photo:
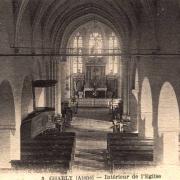
[[[113,114],[108,108],[79,108],[73,115],[63,131],[47,129],[33,138],[32,122],[26,120],[22,126],[26,130],[22,129],[21,160],[11,161],[13,168],[100,173],[155,165],[153,139],[127,129],[114,131]]]

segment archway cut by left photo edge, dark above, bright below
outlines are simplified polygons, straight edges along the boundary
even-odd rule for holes
[[[6,80],[0,85],[0,99],[0,168],[9,168],[11,134],[15,130],[15,105],[12,88]]]

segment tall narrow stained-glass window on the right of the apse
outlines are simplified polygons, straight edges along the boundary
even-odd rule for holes
[[[109,53],[113,54],[118,49],[118,40],[114,33],[109,37]],[[118,71],[118,57],[109,56],[109,73],[116,74]]]

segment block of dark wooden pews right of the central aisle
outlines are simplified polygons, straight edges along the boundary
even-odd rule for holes
[[[154,142],[152,138],[140,138],[134,133],[109,133],[107,158],[111,170],[124,165],[153,164]]]

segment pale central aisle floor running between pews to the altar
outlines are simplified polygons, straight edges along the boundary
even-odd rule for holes
[[[106,137],[112,131],[110,120],[108,109],[79,109],[69,129],[77,137],[73,171],[106,170]]]

